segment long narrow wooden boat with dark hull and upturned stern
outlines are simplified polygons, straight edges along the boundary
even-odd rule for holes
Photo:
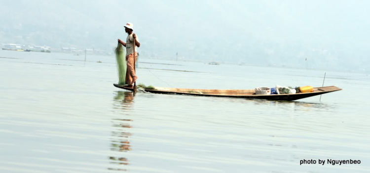
[[[114,87],[134,91],[131,87],[113,84]],[[269,95],[256,95],[255,89],[185,89],[185,88],[171,88],[171,87],[155,87],[155,89],[145,89],[150,93],[159,94],[185,94],[196,96],[213,96],[213,97],[234,97],[234,98],[247,98],[247,99],[266,99],[266,100],[286,100],[292,101],[315,95],[325,94],[333,91],[341,90],[339,87],[314,87],[313,92],[296,93],[296,94],[269,94]]]

